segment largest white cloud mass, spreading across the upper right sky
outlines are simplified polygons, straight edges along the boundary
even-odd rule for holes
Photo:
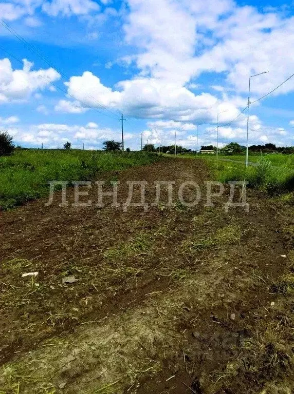
[[[183,85],[203,72],[226,72],[227,83],[244,93],[250,75],[269,71],[252,81],[252,92],[263,94],[292,74],[294,60],[287,54],[294,44],[293,17],[277,10],[261,13],[231,0],[128,4],[125,40],[139,48],[129,57],[141,75]],[[275,94],[293,90],[294,80]]]

